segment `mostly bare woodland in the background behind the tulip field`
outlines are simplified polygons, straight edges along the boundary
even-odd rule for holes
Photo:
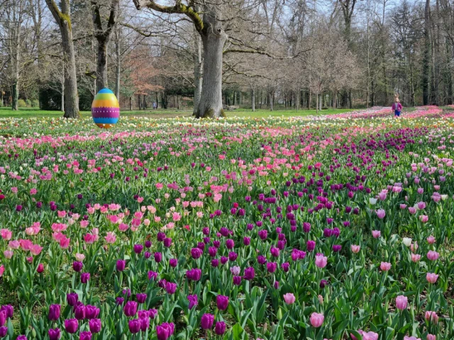
[[[218,62],[223,106],[453,103],[453,0],[216,1],[188,1],[196,17],[161,10],[181,1],[0,0],[0,105],[75,113],[107,86],[122,109],[196,113]],[[221,56],[197,27],[208,27],[206,6],[209,27],[222,25]],[[65,98],[74,93],[77,103]]]

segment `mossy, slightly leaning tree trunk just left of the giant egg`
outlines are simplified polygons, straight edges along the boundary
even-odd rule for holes
[[[62,47],[65,62],[65,118],[79,118],[79,95],[77,94],[76,58],[72,41],[70,1],[62,0],[58,9],[54,0],[45,0],[58,23],[62,35]]]

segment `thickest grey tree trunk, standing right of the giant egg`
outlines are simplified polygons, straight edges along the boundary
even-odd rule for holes
[[[228,36],[221,24],[218,5],[204,5],[204,76],[197,118],[225,117],[222,108],[222,58],[223,46]]]

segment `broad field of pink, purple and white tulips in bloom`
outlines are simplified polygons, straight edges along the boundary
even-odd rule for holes
[[[433,106],[0,118],[0,339],[454,339],[453,154]]]

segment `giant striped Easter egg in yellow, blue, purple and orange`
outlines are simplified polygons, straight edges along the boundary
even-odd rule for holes
[[[120,118],[120,105],[109,89],[102,89],[96,94],[92,103],[92,118],[99,128],[109,129]]]

